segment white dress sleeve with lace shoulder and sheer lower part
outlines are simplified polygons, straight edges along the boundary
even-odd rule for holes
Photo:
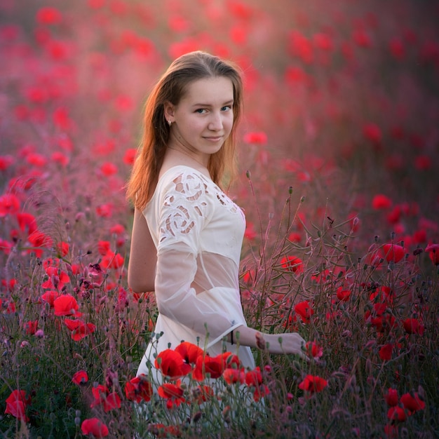
[[[192,174],[178,175],[163,194],[158,208],[155,280],[158,311],[201,336],[207,332],[210,345],[242,325],[191,288],[197,271],[201,231],[215,208],[214,194],[209,193],[199,176]]]

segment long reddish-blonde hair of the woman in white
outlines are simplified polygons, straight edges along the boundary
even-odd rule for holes
[[[165,119],[164,104],[177,105],[189,83],[198,79],[225,76],[234,87],[234,124],[223,146],[212,154],[208,170],[212,180],[222,185],[227,173],[235,172],[236,126],[243,107],[243,83],[241,75],[231,62],[226,62],[209,53],[197,50],[177,58],[161,76],[149,95],[144,109],[144,132],[137,151],[133,172],[127,184],[126,196],[136,208],[143,210],[154,194],[158,173],[163,164],[170,135]]]

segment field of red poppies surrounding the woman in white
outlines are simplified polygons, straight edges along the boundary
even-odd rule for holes
[[[0,435],[439,436],[439,6],[0,1]],[[236,62],[248,325],[308,360],[187,342],[135,377],[154,292],[126,201],[154,81]]]

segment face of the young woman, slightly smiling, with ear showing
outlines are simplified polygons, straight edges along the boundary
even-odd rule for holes
[[[234,123],[234,87],[225,76],[189,83],[177,105],[166,104],[170,128],[168,146],[183,150],[207,166],[210,154],[224,144]]]

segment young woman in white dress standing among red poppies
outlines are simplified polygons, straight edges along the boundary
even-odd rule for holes
[[[245,323],[238,268],[245,229],[242,210],[221,189],[234,164],[242,82],[228,62],[201,51],[175,60],[152,90],[144,136],[128,183],[135,205],[128,285],[155,291],[154,339],[138,374],[154,353],[182,340],[210,356],[227,350],[254,367],[250,347],[299,353],[297,333],[269,335]],[[237,346],[231,346],[236,344]]]

